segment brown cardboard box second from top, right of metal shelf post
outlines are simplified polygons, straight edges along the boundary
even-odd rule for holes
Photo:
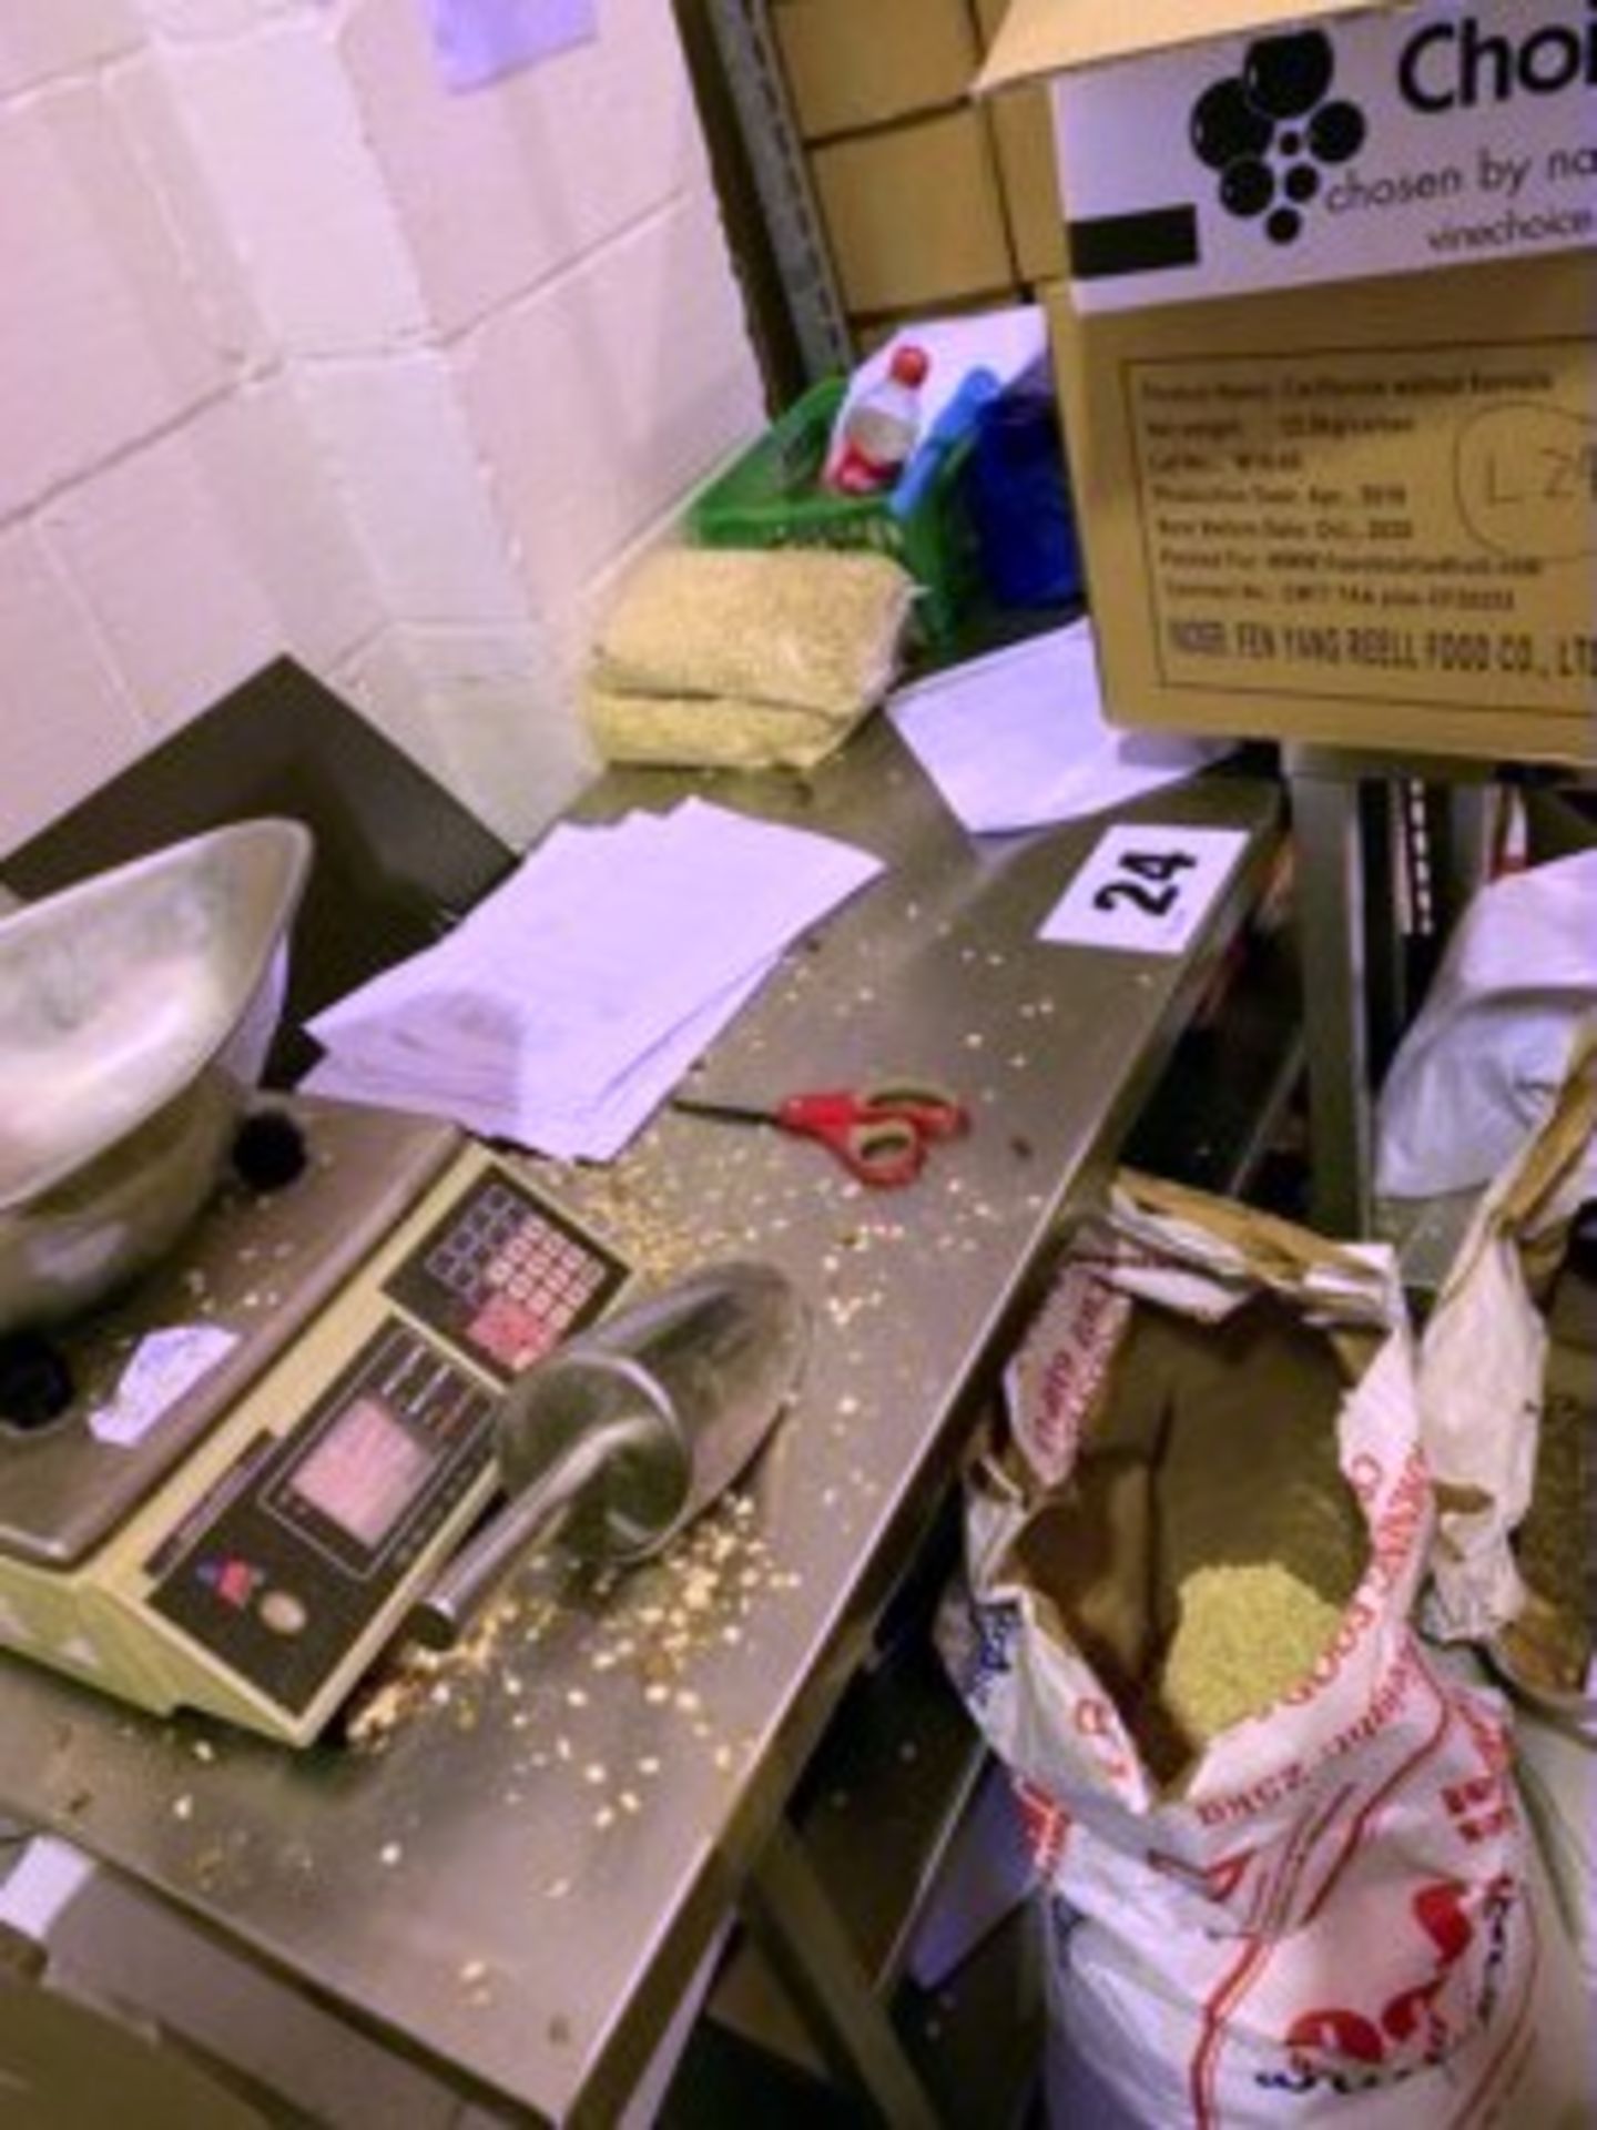
[[[854,315],[924,309],[1014,283],[984,111],[830,141],[809,168]]]

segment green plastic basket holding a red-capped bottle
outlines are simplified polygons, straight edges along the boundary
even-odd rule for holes
[[[875,547],[903,562],[922,596],[916,620],[931,643],[945,643],[979,584],[975,532],[965,509],[960,441],[937,469],[907,518],[884,496],[835,496],[820,469],[847,383],[811,386],[758,443],[711,481],[688,511],[701,547]]]

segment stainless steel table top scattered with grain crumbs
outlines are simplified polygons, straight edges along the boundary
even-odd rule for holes
[[[850,837],[888,873],[798,946],[696,1076],[769,1097],[935,1078],[975,1129],[907,1191],[818,1146],[664,1112],[549,1180],[654,1276],[762,1255],[809,1295],[798,1406],[747,1485],[611,1589],[532,1561],[490,1629],[294,1755],[0,1659],[0,1808],[49,1825],[481,2098],[613,2119],[907,1566],[1073,1197],[1256,890],[1267,782],[1133,809],[1248,831],[1182,956],[1043,946],[1103,822],[971,841],[892,728],[809,780],[609,775]],[[392,1702],[405,1713],[388,1721]]]

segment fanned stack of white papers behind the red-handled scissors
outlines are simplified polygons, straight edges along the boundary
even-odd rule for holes
[[[703,799],[562,824],[445,941],[309,1025],[328,1056],[304,1086],[607,1161],[788,941],[879,871]]]

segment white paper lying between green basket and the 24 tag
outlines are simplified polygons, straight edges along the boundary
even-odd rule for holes
[[[1077,820],[1180,784],[1231,752],[1103,722],[1086,622],[937,673],[892,699],[892,722],[973,835]]]

